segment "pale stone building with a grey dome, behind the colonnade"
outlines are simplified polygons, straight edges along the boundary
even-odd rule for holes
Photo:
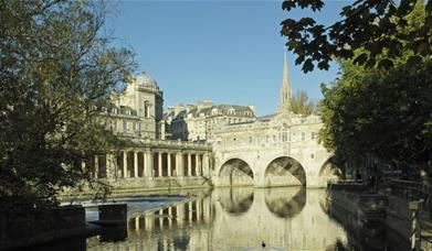
[[[103,118],[116,134],[134,139],[164,139],[164,92],[145,72],[136,76],[118,96],[114,106],[101,108]]]

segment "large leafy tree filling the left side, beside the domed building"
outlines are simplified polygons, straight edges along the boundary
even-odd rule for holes
[[[116,144],[96,122],[135,67],[103,34],[102,1],[0,0],[0,197],[55,205],[63,188],[106,185],[82,167]]]

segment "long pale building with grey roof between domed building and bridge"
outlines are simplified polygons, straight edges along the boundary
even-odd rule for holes
[[[213,141],[213,132],[220,127],[256,120],[254,106],[214,105],[211,101],[170,107],[164,118],[167,138],[207,142]]]

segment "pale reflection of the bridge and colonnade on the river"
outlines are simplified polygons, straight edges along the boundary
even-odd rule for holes
[[[128,219],[122,242],[87,240],[87,250],[239,250],[267,247],[326,250],[347,241],[319,206],[324,190],[215,189]]]

